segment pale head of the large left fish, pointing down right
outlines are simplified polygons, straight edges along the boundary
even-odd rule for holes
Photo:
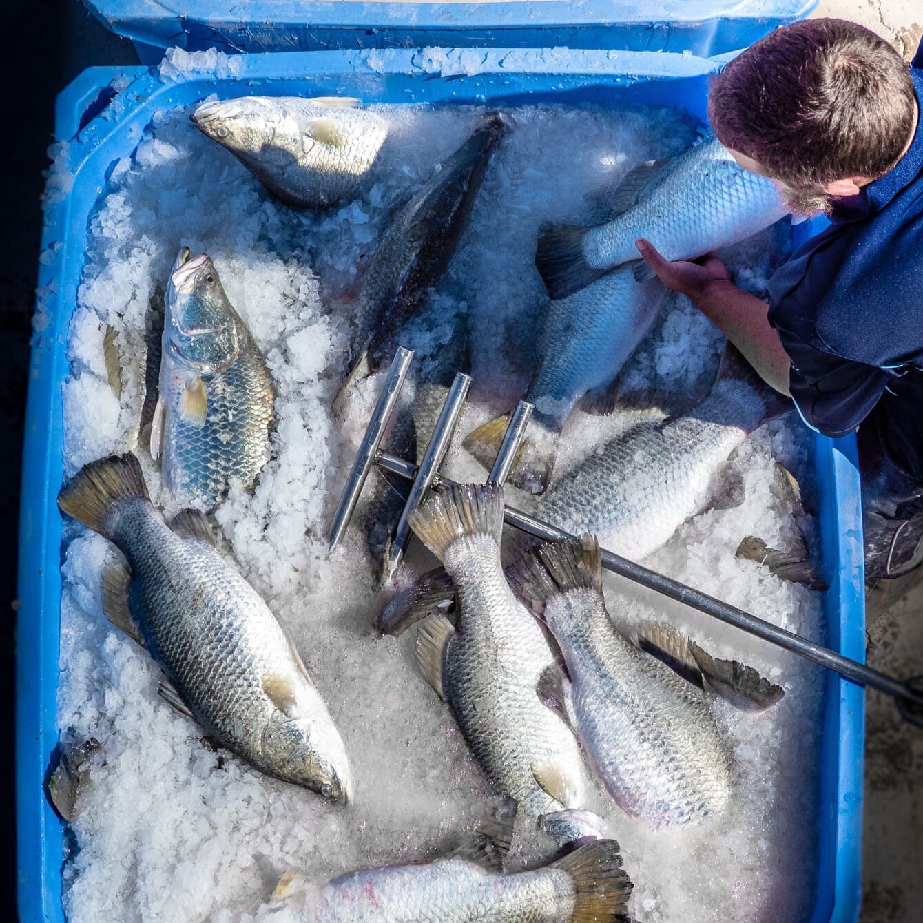
[[[280,778],[331,801],[350,803],[353,780],[346,748],[329,716],[270,721],[263,732],[262,750]]]

